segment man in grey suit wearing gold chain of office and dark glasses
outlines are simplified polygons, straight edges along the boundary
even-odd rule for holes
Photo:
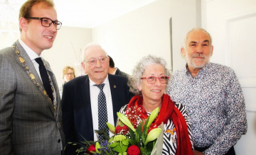
[[[41,57],[61,27],[53,1],[20,8],[21,38],[0,50],[0,154],[61,154],[65,144],[58,84]]]

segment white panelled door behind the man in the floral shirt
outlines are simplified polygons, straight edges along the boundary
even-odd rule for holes
[[[213,38],[210,62],[235,70],[245,96],[247,134],[235,145],[238,155],[256,152],[256,1],[202,0],[202,27]]]

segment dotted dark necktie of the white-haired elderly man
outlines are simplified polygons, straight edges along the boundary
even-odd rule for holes
[[[99,130],[105,130],[107,135],[110,135],[110,132],[107,127],[107,102],[106,102],[106,97],[103,92],[103,87],[105,84],[100,84],[97,85],[95,84],[94,86],[97,86],[100,88],[100,93],[98,96],[98,122],[99,122]],[[99,139],[103,140],[103,137],[99,135]]]

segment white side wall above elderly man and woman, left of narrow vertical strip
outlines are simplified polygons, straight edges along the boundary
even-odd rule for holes
[[[92,40],[100,43],[115,66],[128,74],[147,54],[164,57],[171,69],[170,18],[171,1],[155,1],[93,28]]]

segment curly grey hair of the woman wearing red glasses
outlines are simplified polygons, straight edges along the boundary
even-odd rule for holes
[[[137,86],[139,86],[139,84],[142,83],[141,77],[142,77],[142,74],[145,71],[146,66],[151,65],[151,64],[161,64],[164,67],[164,74],[166,76],[170,76],[170,79],[171,79],[171,72],[170,72],[169,69],[166,68],[166,64],[167,64],[166,61],[161,57],[148,55],[146,57],[143,57],[137,63],[137,65],[132,70],[132,75],[129,76],[128,86],[129,86],[129,91],[130,92],[134,93],[135,95],[139,95],[139,94],[142,93],[138,90]],[[170,81],[170,79],[169,79],[169,81]],[[169,84],[170,84],[169,81],[166,84],[165,93],[169,89]]]

